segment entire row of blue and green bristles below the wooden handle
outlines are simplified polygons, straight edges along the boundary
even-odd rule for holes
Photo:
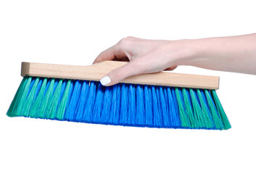
[[[25,77],[7,115],[150,128],[228,129],[215,90]]]

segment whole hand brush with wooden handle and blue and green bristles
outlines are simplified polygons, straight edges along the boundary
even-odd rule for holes
[[[114,86],[99,83],[125,63],[22,62],[23,79],[7,115],[149,128],[231,128],[215,91],[219,77],[157,72]]]

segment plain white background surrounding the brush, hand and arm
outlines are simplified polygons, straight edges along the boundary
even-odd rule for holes
[[[230,130],[174,130],[7,117],[20,62],[90,65],[126,36],[176,40],[256,32],[254,1],[0,2],[0,173],[256,173],[256,76],[220,76]],[[256,47],[255,47],[256,48]]]

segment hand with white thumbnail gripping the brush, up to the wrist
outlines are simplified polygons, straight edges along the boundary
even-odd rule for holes
[[[148,40],[134,37],[121,39],[102,51],[94,63],[104,60],[128,61],[102,78],[104,86],[112,86],[125,78],[144,73],[174,70],[182,57],[186,57],[186,41]]]

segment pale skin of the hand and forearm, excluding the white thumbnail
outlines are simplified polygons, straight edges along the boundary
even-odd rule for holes
[[[111,80],[105,86],[132,75],[174,70],[180,65],[256,75],[256,33],[178,41],[127,37],[102,51],[94,63],[104,60],[128,61],[105,75]]]

